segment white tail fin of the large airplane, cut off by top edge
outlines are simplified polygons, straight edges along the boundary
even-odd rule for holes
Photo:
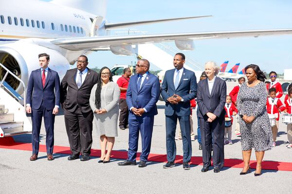
[[[49,2],[79,9],[103,18],[105,18],[107,12],[107,0],[52,0]]]

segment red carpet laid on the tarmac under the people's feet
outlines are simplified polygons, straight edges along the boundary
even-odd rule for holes
[[[0,138],[0,148],[4,149],[18,149],[32,151],[32,144],[15,142],[12,137]],[[45,145],[39,145],[40,152],[46,152]],[[54,146],[54,153],[71,154],[70,147],[66,146]],[[91,149],[91,156],[100,157],[99,149]],[[137,160],[139,161],[140,153],[137,154]],[[115,151],[111,152],[111,158],[127,159],[127,151]],[[166,155],[164,154],[150,154],[148,161],[152,162],[167,162]],[[177,156],[176,163],[183,163],[183,156]],[[193,156],[190,164],[202,165],[202,157]],[[256,161],[251,161],[251,168],[256,168]],[[240,159],[225,159],[225,167],[243,168],[243,161]],[[262,169],[266,170],[280,170],[280,171],[292,171],[292,162],[276,162],[276,161],[263,161]]]

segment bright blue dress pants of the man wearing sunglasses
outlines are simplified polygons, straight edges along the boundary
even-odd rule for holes
[[[128,161],[131,162],[136,161],[139,131],[141,133],[142,140],[142,152],[140,155],[140,161],[147,161],[151,148],[154,115],[136,116],[134,113],[130,112],[128,123],[129,123]]]

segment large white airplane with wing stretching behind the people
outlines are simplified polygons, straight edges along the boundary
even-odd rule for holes
[[[204,16],[108,23],[106,5],[106,0],[1,0],[0,63],[27,84],[31,71],[39,67],[36,57],[43,52],[50,54],[50,68],[62,79],[80,54],[91,51],[109,49],[114,54],[129,55],[134,54],[132,45],[166,41],[174,41],[179,49],[191,50],[193,40],[198,39],[292,33],[292,29],[278,29],[110,36],[107,32],[112,28]],[[4,74],[0,66],[0,80]],[[23,93],[13,76],[5,81]]]

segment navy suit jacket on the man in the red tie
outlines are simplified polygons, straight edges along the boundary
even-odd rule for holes
[[[44,101],[46,109],[53,110],[55,105],[60,105],[60,78],[57,72],[49,68],[43,87],[41,74],[40,68],[32,71],[27,84],[26,103],[33,109],[39,109]]]

